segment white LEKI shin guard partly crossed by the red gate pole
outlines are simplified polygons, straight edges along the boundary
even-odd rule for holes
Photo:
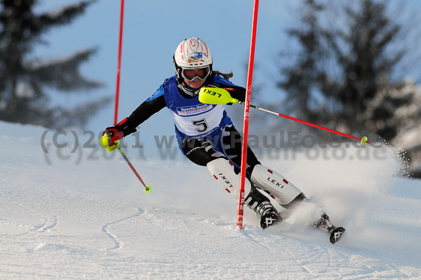
[[[218,181],[218,184],[238,199],[240,174],[235,173],[234,166],[229,162],[229,160],[225,158],[214,159],[206,164],[206,166],[208,167],[210,174],[213,175],[213,178]],[[250,190],[251,184],[246,178],[246,181],[244,182],[244,194],[247,196],[247,194],[250,193]]]

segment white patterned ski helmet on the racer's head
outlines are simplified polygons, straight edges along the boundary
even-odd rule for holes
[[[181,84],[183,79],[192,81],[199,78],[206,79],[212,73],[212,53],[210,49],[199,38],[190,38],[182,41],[175,49],[174,53],[175,73],[177,74],[178,83]],[[203,69],[201,74],[188,75],[185,69]]]

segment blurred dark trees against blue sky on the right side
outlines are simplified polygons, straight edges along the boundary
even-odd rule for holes
[[[300,23],[288,30],[298,48],[278,81],[286,93],[283,109],[337,131],[403,145],[420,177],[421,91],[414,82],[419,77],[407,76],[420,68],[420,40],[408,36],[419,27],[400,22],[389,1],[305,0],[300,11]],[[418,44],[410,44],[414,39]]]

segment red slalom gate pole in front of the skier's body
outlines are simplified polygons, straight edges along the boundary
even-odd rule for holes
[[[250,56],[248,58],[248,72],[247,72],[247,87],[246,87],[246,104],[244,105],[244,121],[243,121],[243,147],[241,152],[241,178],[239,190],[239,208],[237,211],[237,227],[243,229],[243,213],[244,213],[244,184],[246,182],[246,167],[247,167],[247,140],[248,140],[248,119],[250,113],[250,99],[251,99],[251,83],[253,81],[253,65],[256,41],[256,29],[258,26],[258,10],[259,0],[254,1],[253,5],[253,21],[251,23],[251,40],[250,40]]]

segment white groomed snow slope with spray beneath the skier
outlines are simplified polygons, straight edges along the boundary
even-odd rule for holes
[[[262,159],[347,228],[332,245],[307,227],[313,204],[279,207],[270,231],[246,209],[240,231],[236,200],[206,168],[128,149],[145,194],[89,134],[73,151],[70,131],[0,131],[0,279],[421,279],[421,181],[398,176],[392,148]]]

